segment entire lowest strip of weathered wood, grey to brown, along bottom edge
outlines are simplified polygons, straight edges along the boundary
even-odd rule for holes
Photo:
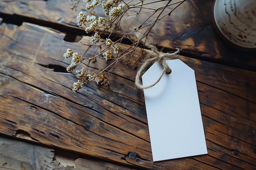
[[[105,170],[110,167],[113,170],[135,170],[2,135],[0,135],[0,153],[1,170]]]

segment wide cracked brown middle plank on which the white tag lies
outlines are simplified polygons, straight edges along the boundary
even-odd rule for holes
[[[65,72],[63,53],[83,53],[85,46],[29,23],[2,23],[0,30],[0,133],[24,132],[46,146],[134,168],[256,168],[255,72],[180,56],[195,70],[208,155],[154,163],[136,69],[121,61],[110,86],[90,83],[74,94],[76,78]],[[92,66],[103,65],[98,59]]]

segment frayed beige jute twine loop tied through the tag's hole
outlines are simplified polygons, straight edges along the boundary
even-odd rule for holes
[[[177,49],[177,51],[173,53],[163,53],[161,51],[157,50],[157,47],[153,44],[146,44],[146,47],[151,49],[153,53],[150,53],[146,59],[144,60],[143,64],[139,68],[139,71],[137,72],[136,78],[135,78],[135,86],[139,89],[147,89],[150,87],[155,86],[160,79],[163,77],[164,73],[170,74],[171,68],[168,66],[166,60],[171,60],[173,58],[176,58],[179,55],[180,49]],[[153,84],[143,86],[141,82],[141,76],[146,72],[146,68],[150,66],[150,64],[153,64],[155,62],[158,62],[159,65],[163,68],[162,74],[158,77],[157,81]]]

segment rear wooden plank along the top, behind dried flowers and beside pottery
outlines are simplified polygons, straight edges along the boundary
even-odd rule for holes
[[[255,51],[245,52],[234,49],[227,45],[214,30],[211,19],[213,1],[187,0],[170,17],[163,18],[154,27],[150,36],[154,38],[155,44],[165,46],[165,51],[182,48],[183,55],[256,71]],[[72,32],[69,36],[75,36],[74,34],[83,32],[82,28],[75,29],[74,26],[76,26],[76,15],[81,10],[85,11],[85,3],[81,2],[76,11],[71,10],[71,6],[68,0],[0,0],[0,14],[15,15],[9,18],[9,22],[20,22],[20,16],[22,16],[21,20],[37,24],[53,25],[55,23],[54,27],[60,30],[64,29],[64,26],[57,26],[57,24],[71,26]],[[102,13],[102,10],[97,10],[96,13]],[[148,15],[143,14],[136,21],[145,20],[147,17]],[[123,30],[126,29],[126,27],[123,28]],[[168,43],[170,40],[171,43]]]

